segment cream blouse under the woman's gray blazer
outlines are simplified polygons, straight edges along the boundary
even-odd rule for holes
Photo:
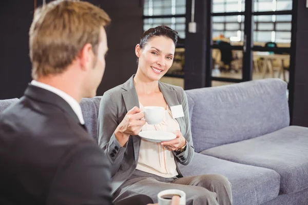
[[[139,102],[140,109],[143,108]],[[165,110],[165,116],[161,124],[148,125],[142,127],[142,131],[167,131],[173,132],[180,130],[179,123],[176,119],[172,118],[171,110],[167,106]],[[137,164],[137,170],[155,174],[161,177],[170,178],[178,175],[177,165],[172,151],[168,151],[160,143],[147,141],[141,138],[139,159]]]

